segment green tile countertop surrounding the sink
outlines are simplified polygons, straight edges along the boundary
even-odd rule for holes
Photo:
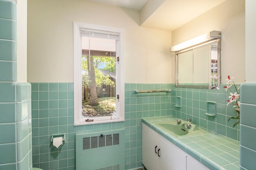
[[[239,170],[239,141],[209,131],[178,136],[154,124],[154,122],[174,119],[177,118],[173,116],[148,117],[143,118],[142,122],[211,170]]]

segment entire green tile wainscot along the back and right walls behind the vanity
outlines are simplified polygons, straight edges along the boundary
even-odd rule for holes
[[[238,127],[228,118],[236,114],[226,106],[228,95],[221,90],[175,88],[174,84],[125,83],[125,121],[74,126],[73,83],[31,83],[33,166],[44,170],[75,169],[75,134],[81,131],[125,128],[126,169],[142,167],[142,118],[174,115],[190,117],[203,129],[239,140]],[[134,90],[171,89],[171,93],[139,93]],[[174,107],[176,96],[181,107]],[[207,101],[216,102],[217,116],[206,117]],[[228,113],[226,114],[226,111]],[[67,142],[59,149],[50,145],[51,134],[66,133]]]

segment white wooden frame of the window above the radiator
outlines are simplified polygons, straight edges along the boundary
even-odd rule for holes
[[[74,125],[88,125],[124,121],[124,29],[76,22],[74,26]],[[82,38],[80,29],[114,32],[119,34],[119,61],[116,63],[116,116],[92,117],[94,121],[82,119]],[[118,51],[118,50],[117,50]],[[119,95],[119,99],[117,99]]]

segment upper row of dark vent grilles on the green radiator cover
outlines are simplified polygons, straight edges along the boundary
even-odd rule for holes
[[[83,138],[83,149],[119,145],[119,133]]]

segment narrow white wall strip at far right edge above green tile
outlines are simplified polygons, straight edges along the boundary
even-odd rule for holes
[[[246,0],[246,82],[256,82],[256,1]]]

